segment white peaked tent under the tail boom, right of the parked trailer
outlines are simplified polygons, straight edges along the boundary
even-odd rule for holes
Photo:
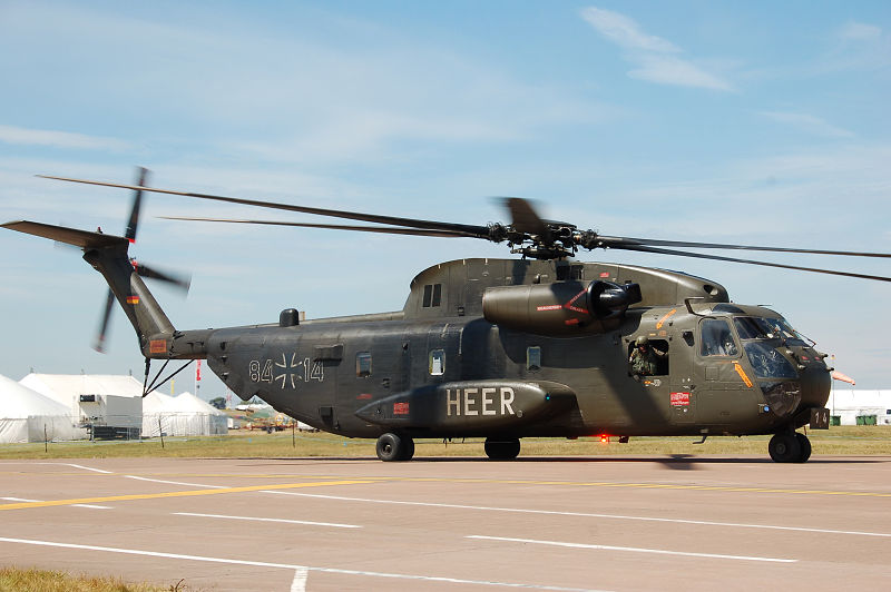
[[[143,435],[212,436],[228,433],[228,415],[192,393],[154,392],[143,399]]]

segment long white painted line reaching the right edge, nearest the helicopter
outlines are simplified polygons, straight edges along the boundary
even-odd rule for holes
[[[884,536],[891,537],[891,534],[884,532],[868,532],[868,531],[836,531],[831,529],[805,529],[801,526],[775,526],[773,524],[746,524],[741,522],[712,522],[707,520],[683,520],[683,519],[666,519],[666,517],[650,517],[650,516],[629,516],[623,514],[596,514],[590,512],[558,512],[556,510],[529,510],[522,507],[492,507],[484,505],[463,505],[463,504],[438,504],[432,502],[405,502],[400,500],[372,500],[369,497],[347,497],[341,495],[322,495],[317,493],[297,493],[290,491],[274,491],[263,490],[261,493],[274,493],[276,495],[298,495],[301,497],[319,497],[322,500],[340,500],[345,502],[366,502],[374,504],[399,504],[399,505],[420,505],[425,507],[453,507],[457,510],[479,510],[483,512],[515,512],[518,514],[546,514],[557,516],[577,516],[577,517],[597,517],[609,520],[636,520],[642,522],[669,522],[674,524],[696,524],[702,526],[730,526],[736,529],[765,529],[774,531],[795,531],[795,532],[814,532],[823,534],[854,534],[859,536]]]

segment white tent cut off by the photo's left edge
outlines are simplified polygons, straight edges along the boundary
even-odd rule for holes
[[[0,443],[78,440],[86,431],[77,428],[70,410],[0,375]]]

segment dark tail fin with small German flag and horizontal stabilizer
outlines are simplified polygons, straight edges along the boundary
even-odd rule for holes
[[[0,226],[82,248],[84,259],[102,274],[130,319],[144,353],[149,352],[149,339],[173,336],[175,329],[170,319],[130,263],[127,254],[130,243],[127,238],[26,220]]]

